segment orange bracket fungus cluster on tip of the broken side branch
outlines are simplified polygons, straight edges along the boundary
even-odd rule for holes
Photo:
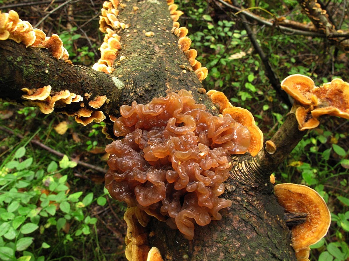
[[[341,79],[316,87],[313,80],[293,74],[281,82],[281,87],[295,100],[292,112],[296,114],[299,130],[319,126],[318,118],[329,114],[349,119],[349,84]]]

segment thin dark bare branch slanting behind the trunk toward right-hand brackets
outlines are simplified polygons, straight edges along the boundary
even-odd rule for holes
[[[232,2],[234,5],[238,5],[238,2],[236,0],[232,0]],[[254,49],[257,51],[264,64],[266,75],[270,81],[270,84],[272,85],[276,93],[279,95],[279,97],[281,97],[282,101],[291,108],[292,103],[290,102],[288,95],[281,89],[280,79],[279,77],[277,77],[272,66],[270,65],[269,58],[266,56],[266,54],[263,52],[262,48],[258,44],[258,41],[255,38],[250,25],[248,25],[245,15],[243,13],[239,13],[238,16],[243,22],[243,26],[247,32],[248,38],[250,39]]]

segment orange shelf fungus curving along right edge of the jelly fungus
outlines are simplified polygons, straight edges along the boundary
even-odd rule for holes
[[[222,92],[209,90],[206,94],[223,117],[229,114],[236,122],[248,128],[251,134],[251,143],[247,150],[252,156],[256,156],[263,147],[263,133],[256,125],[252,113],[244,108],[233,106]]]

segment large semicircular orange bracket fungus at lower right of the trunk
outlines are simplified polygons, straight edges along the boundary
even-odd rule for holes
[[[296,252],[319,242],[327,234],[331,213],[317,191],[292,183],[275,185],[274,191],[277,201],[286,212],[307,213],[306,221],[291,229],[292,247]]]

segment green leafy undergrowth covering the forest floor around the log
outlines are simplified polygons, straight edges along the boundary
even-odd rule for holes
[[[1,2],[1,1],[0,1]],[[251,3],[254,1],[251,1]],[[269,3],[268,3],[269,2]],[[333,2],[333,3],[332,3]],[[329,1],[329,13],[345,1]],[[57,32],[76,64],[92,65],[99,58],[98,12],[102,1],[80,1],[58,9],[39,25]],[[259,1],[255,14],[285,15],[309,22],[296,0],[283,5]],[[50,6],[49,10],[58,4]],[[36,24],[47,6],[16,9]],[[233,105],[249,109],[269,139],[283,123],[288,106],[266,77],[263,61],[253,49],[242,22],[206,1],[180,1],[180,19],[209,69],[207,89],[223,91]],[[344,9],[343,9],[344,10]],[[97,14],[97,15],[96,15]],[[340,16],[333,16],[341,19]],[[348,24],[343,17],[343,25]],[[252,24],[252,30],[282,80],[301,73],[321,85],[335,77],[349,81],[348,55],[320,38],[282,33]],[[103,190],[103,173],[75,165],[76,160],[106,168],[101,124],[82,127],[62,115],[44,115],[31,107],[1,103],[0,125],[0,258],[6,260],[125,260],[125,205]],[[9,134],[7,130],[22,134]],[[276,182],[306,184],[325,199],[332,215],[327,236],[312,246],[311,260],[349,258],[348,120],[324,117],[275,172]],[[55,156],[31,143],[37,140],[68,157]],[[6,256],[8,255],[8,256]],[[35,258],[31,258],[34,255]],[[15,258],[14,258],[15,256]]]

